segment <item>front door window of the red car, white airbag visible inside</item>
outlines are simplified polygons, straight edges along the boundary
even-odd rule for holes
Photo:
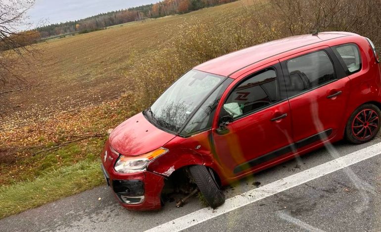
[[[249,114],[280,101],[277,74],[272,68],[247,78],[226,100],[223,111],[233,118]]]

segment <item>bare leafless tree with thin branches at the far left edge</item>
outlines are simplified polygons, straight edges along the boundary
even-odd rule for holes
[[[26,12],[35,0],[0,0],[0,115],[8,105],[4,94],[30,89],[23,70],[34,65],[33,45],[39,32],[30,30]]]

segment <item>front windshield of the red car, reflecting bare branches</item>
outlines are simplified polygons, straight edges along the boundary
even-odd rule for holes
[[[154,124],[172,132],[186,123],[198,106],[226,77],[190,70],[173,83],[147,110]]]

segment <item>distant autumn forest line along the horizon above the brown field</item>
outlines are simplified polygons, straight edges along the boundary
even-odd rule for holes
[[[41,39],[76,32],[86,33],[117,24],[138,21],[146,18],[158,18],[167,15],[182,14],[232,1],[236,0],[163,0],[155,4],[101,13],[81,20],[51,24],[39,27],[36,31],[39,32]]]

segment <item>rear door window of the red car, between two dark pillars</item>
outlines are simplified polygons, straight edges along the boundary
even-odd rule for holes
[[[288,97],[334,80],[333,63],[325,51],[316,51],[287,61]]]

